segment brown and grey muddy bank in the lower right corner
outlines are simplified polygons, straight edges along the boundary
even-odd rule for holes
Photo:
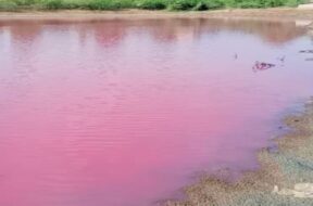
[[[276,139],[277,150],[259,153],[260,169],[234,183],[202,177],[186,188],[187,198],[166,206],[313,205],[313,99],[299,116],[285,119],[291,132]]]

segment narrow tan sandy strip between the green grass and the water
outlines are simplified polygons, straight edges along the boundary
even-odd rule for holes
[[[224,18],[271,18],[271,20],[313,20],[313,10],[300,9],[247,9],[247,10],[220,10],[205,12],[170,12],[170,11],[21,11],[0,12],[2,20],[99,20],[99,18],[168,18],[168,17],[224,17]]]

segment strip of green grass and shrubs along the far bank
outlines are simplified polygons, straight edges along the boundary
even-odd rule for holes
[[[0,0],[0,11],[23,10],[172,10],[296,7],[305,0]]]

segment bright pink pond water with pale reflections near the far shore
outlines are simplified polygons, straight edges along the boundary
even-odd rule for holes
[[[295,22],[0,22],[0,205],[148,206],[255,168],[310,48]]]

